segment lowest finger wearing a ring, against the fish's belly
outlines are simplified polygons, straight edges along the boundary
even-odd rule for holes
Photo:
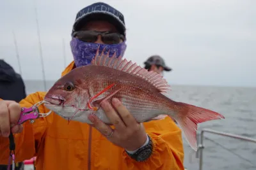
[[[104,136],[109,136],[109,134],[113,132],[113,129],[111,129],[111,127],[109,127],[108,125],[104,124],[104,122],[102,122],[97,116],[89,115],[88,118],[89,120],[91,120],[91,122],[93,122],[94,127]]]

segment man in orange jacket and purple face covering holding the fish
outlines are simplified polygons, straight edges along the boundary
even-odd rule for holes
[[[124,16],[105,3],[95,3],[77,13],[70,46],[74,61],[62,76],[74,67],[90,64],[98,48],[123,56],[125,52]],[[45,92],[36,92],[20,102],[29,107],[42,101]],[[0,163],[8,161],[10,124],[17,122],[20,106],[0,101]],[[138,124],[131,113],[113,99],[102,103],[113,126],[90,116],[93,127],[70,122],[52,113],[12,127],[15,134],[16,159],[36,155],[36,170],[42,169],[184,169],[181,131],[170,118]],[[49,110],[40,106],[40,113]],[[10,118],[9,118],[10,117]],[[122,119],[120,117],[125,117]],[[9,123],[10,122],[10,123]],[[125,122],[125,123],[124,123]],[[113,129],[115,128],[115,130]]]

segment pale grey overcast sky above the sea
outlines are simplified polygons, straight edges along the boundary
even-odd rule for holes
[[[42,79],[34,0],[0,3],[0,59],[19,73],[12,31],[15,31],[22,77]],[[57,80],[72,61],[69,41],[77,11],[97,1],[36,1],[47,80]],[[143,66],[159,54],[173,68],[170,84],[256,87],[256,1],[102,1],[124,14],[125,56]]]

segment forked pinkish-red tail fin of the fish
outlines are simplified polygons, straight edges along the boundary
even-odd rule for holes
[[[209,120],[217,120],[225,118],[220,113],[207,110],[186,103],[177,103],[179,112],[175,120],[180,125],[189,145],[193,150],[197,150],[196,131],[197,124],[207,122]]]

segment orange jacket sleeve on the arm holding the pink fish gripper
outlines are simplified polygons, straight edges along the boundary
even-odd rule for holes
[[[20,101],[21,107],[29,108],[38,101],[42,101],[42,92],[30,94],[28,97]],[[44,113],[44,107],[39,107],[38,111]],[[36,156],[38,146],[44,138],[46,121],[45,118],[38,118],[33,124],[29,121],[24,122],[23,131],[19,134],[13,134],[15,138],[15,159],[22,162],[31,157]],[[0,164],[8,164],[10,155],[9,139],[0,136]]]

